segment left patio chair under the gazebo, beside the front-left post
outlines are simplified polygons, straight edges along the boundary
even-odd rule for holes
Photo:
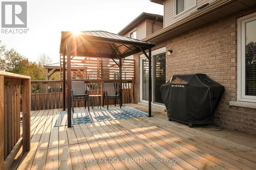
[[[88,101],[88,111],[90,111],[90,98],[89,91],[84,90],[83,81],[72,81],[71,83],[71,95],[72,95],[72,111],[74,113],[74,101],[84,101],[84,108],[86,109],[86,102]]]

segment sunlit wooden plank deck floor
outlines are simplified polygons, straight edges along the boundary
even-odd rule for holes
[[[20,151],[12,169],[256,169],[253,135],[188,128],[157,110],[151,118],[54,127],[56,111],[32,111],[31,150]]]

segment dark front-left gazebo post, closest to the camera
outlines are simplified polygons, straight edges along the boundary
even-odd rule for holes
[[[68,128],[72,127],[71,107],[72,107],[72,96],[71,96],[71,43],[70,39],[67,39],[67,85],[68,85]]]

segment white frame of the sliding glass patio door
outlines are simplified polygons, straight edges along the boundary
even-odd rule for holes
[[[161,48],[158,48],[158,49],[156,49],[156,50],[154,50],[154,51],[152,51],[151,52],[151,55],[152,55],[152,70],[151,70],[151,72],[152,72],[152,80],[153,80],[153,68],[154,68],[154,62],[153,62],[153,56],[155,56],[155,55],[158,55],[158,54],[161,54],[161,53],[166,53],[166,47],[164,46],[164,47],[161,47]],[[148,55],[148,53],[146,53],[147,55]],[[144,54],[141,54],[140,56],[140,82],[142,82],[142,59],[145,59],[146,58],[146,56],[144,55]],[[152,81],[152,104],[155,104],[155,105],[159,105],[159,106],[162,106],[163,104],[160,104],[160,103],[155,103],[154,102],[154,81]],[[142,83],[140,83],[140,102],[145,102],[145,103],[148,103],[148,101],[145,101],[145,100],[142,100]]]

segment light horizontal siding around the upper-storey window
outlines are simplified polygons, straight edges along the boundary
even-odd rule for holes
[[[165,0],[164,1],[164,27],[170,26],[173,23],[187,17],[191,13],[197,11],[198,7],[201,7],[202,5],[206,3],[211,3],[214,0],[197,0],[197,6],[194,8],[191,8],[184,13],[181,13],[177,16],[175,16],[175,10],[174,10],[174,4],[175,0]]]

